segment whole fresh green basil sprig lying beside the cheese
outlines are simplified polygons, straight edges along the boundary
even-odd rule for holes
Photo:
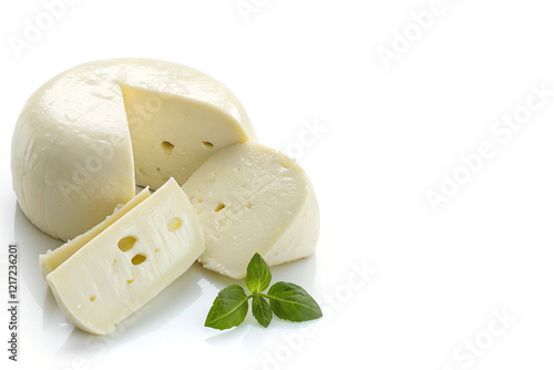
[[[307,321],[322,316],[316,300],[295,284],[279,281],[264,294],[271,282],[271,271],[257,253],[246,268],[245,282],[252,292],[249,296],[239,285],[232,285],[219,291],[206,317],[206,327],[224,330],[239,326],[248,312],[250,298],[252,314],[264,328],[269,326],[274,314],[289,321]]]

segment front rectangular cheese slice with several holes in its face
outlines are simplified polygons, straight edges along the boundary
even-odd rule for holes
[[[76,327],[106,335],[204,251],[196,214],[171,178],[47,276]]]

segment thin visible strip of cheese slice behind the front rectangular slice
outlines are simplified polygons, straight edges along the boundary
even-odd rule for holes
[[[75,251],[81,249],[85,244],[95,238],[100,233],[105,230],[110,225],[120,219],[127,212],[133,209],[137,204],[142,201],[146,199],[150,196],[150,189],[146,187],[136,194],[131,201],[125,203],[122,207],[116,207],[114,213],[109,216],[106,219],[91,228],[89,232],[76,236],[74,239],[63,244],[59,248],[48,253],[45,255],[39,256],[40,270],[42,273],[42,277],[47,278],[47,275],[52,273],[58,268],[61,264],[65,261],[65,259],[70,258]]]

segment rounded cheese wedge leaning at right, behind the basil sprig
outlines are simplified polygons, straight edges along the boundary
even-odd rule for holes
[[[319,208],[298,163],[257,143],[207,160],[183,186],[204,233],[204,267],[243,278],[257,251],[269,266],[314,254]]]

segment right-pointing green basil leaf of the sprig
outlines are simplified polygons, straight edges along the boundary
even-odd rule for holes
[[[269,288],[266,297],[278,318],[289,321],[307,321],[322,316],[319,305],[296,284],[279,281]]]

